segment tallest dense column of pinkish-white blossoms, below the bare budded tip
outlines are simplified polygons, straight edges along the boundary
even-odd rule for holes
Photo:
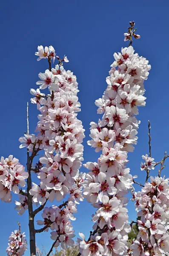
[[[83,183],[83,194],[97,208],[92,220],[94,236],[80,242],[86,255],[122,255],[127,247],[130,232],[127,215],[127,194],[132,188],[132,175],[126,168],[127,152],[137,143],[139,121],[134,115],[138,107],[145,106],[143,81],[149,75],[148,61],[134,53],[132,46],[114,54],[108,84],[102,99],[96,100],[97,113],[103,113],[98,124],[91,122],[92,140],[88,144],[95,151],[102,150],[97,163],[85,164],[89,169]]]

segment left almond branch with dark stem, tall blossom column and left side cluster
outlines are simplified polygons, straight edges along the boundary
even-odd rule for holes
[[[9,156],[0,160],[0,198],[2,201],[11,201],[11,191],[19,194],[16,207],[22,215],[26,209],[29,211],[30,255],[36,255],[35,234],[52,230],[51,238],[55,240],[53,247],[59,244],[63,248],[72,245],[74,230],[71,224],[75,220],[73,213],[77,212],[77,204],[83,201],[82,183],[85,175],[79,173],[83,160],[84,129],[82,122],[77,119],[80,111],[78,102],[76,76],[70,70],[63,68],[63,62],[68,62],[66,56],[60,59],[52,46],[39,46],[35,53],[38,61],[42,58],[48,60],[49,69],[39,73],[37,81],[39,88],[31,89],[34,96],[31,102],[37,105],[40,111],[36,134],[29,134],[29,114],[27,104],[27,133],[20,137],[20,148],[27,147],[27,172],[19,160]],[[51,60],[59,63],[52,68]],[[49,94],[40,90],[48,89]],[[44,150],[38,163],[34,164],[34,157]],[[40,184],[32,182],[32,172],[37,174]],[[22,190],[26,186],[27,192]],[[20,187],[21,188],[20,188]],[[62,201],[66,195],[67,201],[60,206],[45,207],[46,202]],[[40,206],[38,207],[38,204]],[[35,209],[34,209],[35,206]],[[37,207],[37,208],[36,208]],[[35,215],[42,211],[43,225],[39,230],[34,227]],[[49,255],[48,254],[48,255]],[[18,253],[17,256],[23,254]]]

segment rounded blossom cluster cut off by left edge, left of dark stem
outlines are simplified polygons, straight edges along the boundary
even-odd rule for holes
[[[19,163],[17,158],[10,155],[8,158],[0,159],[0,198],[1,201],[11,202],[11,191],[20,193],[20,187],[26,185],[28,173],[25,167]]]

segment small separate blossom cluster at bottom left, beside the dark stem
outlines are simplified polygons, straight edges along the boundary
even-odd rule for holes
[[[21,233],[20,228],[14,230],[9,236],[8,247],[6,248],[7,255],[10,256],[22,256],[27,250],[27,241],[24,233]]]

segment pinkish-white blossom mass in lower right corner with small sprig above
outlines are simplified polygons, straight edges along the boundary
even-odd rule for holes
[[[154,158],[142,156],[141,170],[154,169]],[[169,252],[169,178],[150,177],[141,192],[133,191],[139,233],[128,251],[133,256],[165,256]]]

